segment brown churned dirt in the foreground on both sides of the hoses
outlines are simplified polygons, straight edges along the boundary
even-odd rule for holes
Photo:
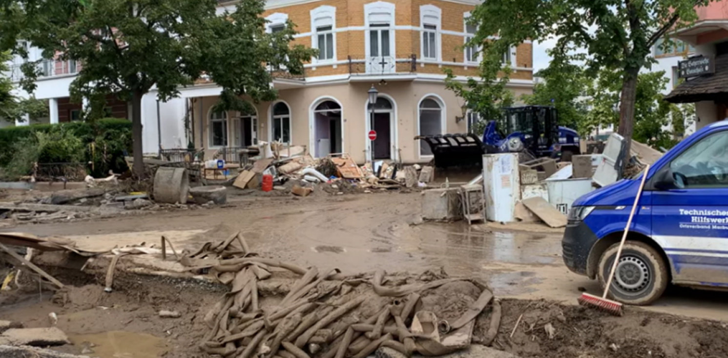
[[[100,358],[205,357],[197,348],[208,330],[202,319],[226,291],[199,281],[120,274],[119,289],[103,293],[90,275],[54,274],[76,285],[65,302],[53,300],[50,293],[4,293],[0,316],[29,328],[47,327],[48,314],[55,312],[58,328],[74,343],[55,349]],[[726,322],[631,308],[614,317],[545,300],[505,299],[501,304],[502,321],[492,346],[524,358],[728,357]],[[162,309],[181,317],[161,318],[157,312]],[[476,321],[476,340],[488,329],[489,313]],[[547,325],[553,327],[551,335]]]

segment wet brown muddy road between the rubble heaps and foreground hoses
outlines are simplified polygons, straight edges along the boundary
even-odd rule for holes
[[[417,192],[370,195],[232,196],[222,208],[119,216],[63,224],[4,227],[1,231],[117,242],[159,240],[159,232],[202,245],[210,235],[241,230],[262,256],[343,272],[422,272],[442,267],[453,277],[489,282],[496,296],[545,298],[576,304],[579,288],[598,285],[561,260],[561,234],[512,230],[518,225],[472,226],[419,222]],[[204,230],[213,231],[209,234]],[[217,237],[213,237],[217,238]],[[725,293],[670,288],[649,310],[728,321]]]

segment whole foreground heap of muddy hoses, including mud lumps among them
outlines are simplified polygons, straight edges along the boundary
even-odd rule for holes
[[[480,343],[489,345],[499,328],[499,303],[478,280],[303,268],[258,257],[240,233],[180,262],[231,286],[205,315],[210,330],[199,347],[208,354],[363,358],[389,347],[407,357],[439,356],[470,346],[475,317],[491,301],[491,327]]]

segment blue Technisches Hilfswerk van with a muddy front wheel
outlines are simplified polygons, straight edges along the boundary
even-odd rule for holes
[[[606,285],[641,175],[574,201],[562,241],[571,271]],[[728,121],[687,137],[646,175],[610,296],[646,305],[669,282],[728,288]]]

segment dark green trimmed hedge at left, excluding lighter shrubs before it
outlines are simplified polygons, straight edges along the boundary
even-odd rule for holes
[[[70,122],[58,124],[32,124],[30,126],[16,126],[0,129],[0,167],[7,167],[16,157],[18,147],[25,143],[32,142],[35,133],[53,134],[63,131],[67,135],[76,137],[83,144],[83,153],[80,155],[84,160],[94,163],[94,170],[89,173],[94,176],[103,176],[108,170],[119,172],[125,170],[123,160],[124,151],[131,152],[131,127],[132,123],[126,119],[103,118],[93,123]],[[92,152],[91,144],[95,143]],[[107,148],[106,152],[103,148]],[[53,160],[58,162],[72,162],[79,158],[79,155],[54,155]],[[41,156],[42,157],[42,156]],[[76,158],[76,160],[70,157]],[[17,158],[15,158],[17,165]],[[27,160],[22,160],[27,161]],[[39,158],[39,161],[43,161]]]

